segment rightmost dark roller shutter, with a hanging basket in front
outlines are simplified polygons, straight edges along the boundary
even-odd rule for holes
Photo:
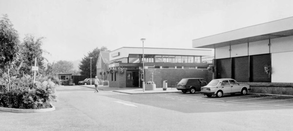
[[[271,65],[271,54],[251,56],[251,82],[271,82],[265,66]]]

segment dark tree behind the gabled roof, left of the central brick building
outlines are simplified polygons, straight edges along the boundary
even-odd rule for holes
[[[90,77],[90,58],[89,57],[92,57],[91,76],[93,77],[93,76],[97,75],[96,63],[97,63],[97,60],[99,58],[101,51],[108,51],[108,49],[105,46],[102,46],[101,49],[99,49],[97,47],[92,52],[89,52],[87,54],[87,56],[84,56],[84,58],[82,59],[80,65],[79,65],[79,69],[81,70],[81,75],[86,75],[86,76]]]

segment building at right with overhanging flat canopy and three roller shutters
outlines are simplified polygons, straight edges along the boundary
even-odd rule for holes
[[[293,17],[192,40],[214,49],[214,78],[234,78],[252,92],[293,94]]]

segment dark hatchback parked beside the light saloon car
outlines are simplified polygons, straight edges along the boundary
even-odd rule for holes
[[[183,93],[189,92],[194,94],[195,92],[200,92],[202,86],[206,86],[208,82],[203,78],[183,78],[177,84],[177,90],[182,91]]]

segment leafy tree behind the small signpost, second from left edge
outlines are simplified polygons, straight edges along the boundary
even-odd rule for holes
[[[19,57],[19,74],[23,76],[25,74],[32,75],[32,66],[35,66],[35,58],[37,57],[37,66],[39,67],[39,74],[44,73],[44,60],[42,56],[43,50],[42,39],[44,37],[36,38],[32,35],[26,35],[23,38],[23,42],[20,45],[20,57]]]

